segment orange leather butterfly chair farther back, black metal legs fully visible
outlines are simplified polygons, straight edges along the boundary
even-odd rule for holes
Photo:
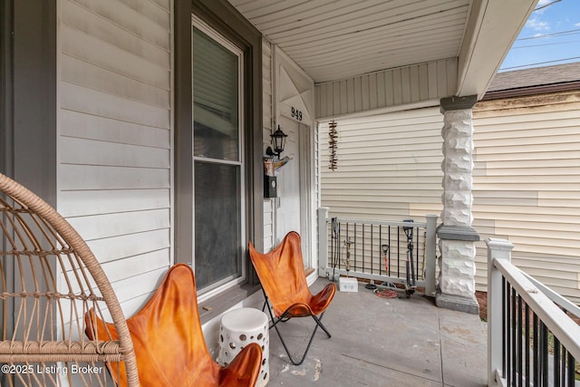
[[[310,345],[314,339],[314,334],[320,326],[324,332],[331,337],[321,320],[328,305],[333,300],[336,292],[336,285],[328,284],[317,295],[313,295],[306,284],[306,276],[304,274],[304,263],[302,260],[302,249],[300,248],[300,236],[298,233],[289,232],[282,242],[267,254],[261,254],[256,251],[256,248],[249,243],[250,258],[256,268],[257,276],[262,284],[262,290],[266,297],[264,307],[269,303],[272,307],[268,307],[270,317],[272,318],[272,327],[280,337],[280,341],[284,346],[290,362],[295,365],[300,365],[304,362],[304,358],[310,349]],[[264,310],[264,308],[262,308]],[[274,313],[273,313],[274,312]],[[318,315],[320,316],[318,317]],[[278,330],[277,324],[281,321],[285,322],[293,317],[312,317],[316,326],[314,332],[310,336],[310,341],[304,355],[300,360],[295,360]]]

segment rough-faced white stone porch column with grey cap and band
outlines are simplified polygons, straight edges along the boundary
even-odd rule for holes
[[[475,297],[475,242],[473,216],[473,124],[471,108],[475,95],[440,101],[443,113],[443,210],[437,235],[441,253],[439,292],[435,303],[444,308],[479,313]]]

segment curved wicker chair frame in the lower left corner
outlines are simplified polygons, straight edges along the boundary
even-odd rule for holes
[[[123,362],[138,386],[125,316],[91,249],[29,189],[0,174],[0,191],[0,385],[113,385],[104,365]],[[119,340],[86,336],[91,308]]]

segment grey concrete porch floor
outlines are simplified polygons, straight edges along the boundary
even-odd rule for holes
[[[319,278],[315,294],[328,281]],[[487,324],[478,315],[441,309],[420,295],[385,299],[359,284],[336,292],[304,363],[289,363],[270,330],[268,386],[485,386]],[[302,353],[311,318],[281,325],[290,351]]]

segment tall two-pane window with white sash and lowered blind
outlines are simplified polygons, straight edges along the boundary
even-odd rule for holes
[[[193,19],[194,257],[200,295],[245,280],[243,52]]]

